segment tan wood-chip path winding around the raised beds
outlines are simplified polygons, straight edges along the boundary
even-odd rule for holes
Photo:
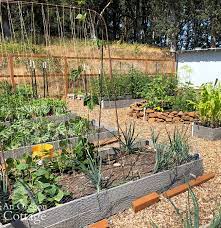
[[[99,109],[95,108],[92,112],[89,112],[87,108],[79,105],[79,102],[71,101],[70,108],[73,112],[80,116],[87,117],[90,119],[99,118]],[[200,225],[205,226],[210,223],[214,214],[218,212],[221,206],[221,140],[208,141],[192,136],[191,126],[179,124],[166,124],[166,123],[154,123],[150,124],[147,121],[140,119],[134,119],[129,117],[129,109],[123,108],[118,109],[118,121],[120,126],[123,128],[125,123],[135,122],[136,131],[139,133],[139,137],[142,139],[150,138],[151,130],[153,127],[160,132],[160,139],[165,140],[166,130],[173,131],[174,127],[187,127],[188,135],[190,137],[190,143],[192,150],[199,152],[204,160],[204,170],[207,172],[214,172],[216,177],[199,187],[194,188],[194,193],[198,199],[200,209]],[[101,121],[107,127],[116,127],[116,111],[114,109],[102,110]],[[187,193],[180,194],[174,197],[173,203],[180,209],[180,213],[185,215],[187,206]],[[111,227],[113,228],[149,228],[151,221],[154,221],[158,227],[162,228],[179,228],[181,225],[181,219],[177,216],[174,207],[171,203],[161,197],[160,203],[157,203],[151,207],[142,210],[135,214],[132,209],[125,210],[122,213],[118,213],[108,219]]]

